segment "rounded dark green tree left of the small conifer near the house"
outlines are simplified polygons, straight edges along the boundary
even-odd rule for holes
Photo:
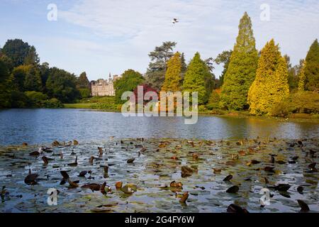
[[[77,78],[74,74],[53,67],[47,78],[47,94],[62,103],[71,103],[79,99],[80,94],[76,88]]]

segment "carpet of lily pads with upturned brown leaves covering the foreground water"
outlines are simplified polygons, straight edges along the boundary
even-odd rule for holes
[[[319,211],[317,139],[50,145],[0,147],[1,212]],[[260,206],[265,188],[270,204]]]

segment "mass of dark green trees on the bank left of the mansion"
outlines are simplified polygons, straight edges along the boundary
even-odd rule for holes
[[[0,108],[60,108],[90,95],[89,79],[47,62],[40,64],[34,46],[7,40],[0,49]]]

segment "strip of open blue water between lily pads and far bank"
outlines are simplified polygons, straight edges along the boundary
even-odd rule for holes
[[[0,111],[0,145],[51,143],[53,140],[116,138],[318,138],[318,123],[264,118],[198,116],[194,125],[183,117],[124,117],[121,113],[83,109],[10,109]]]

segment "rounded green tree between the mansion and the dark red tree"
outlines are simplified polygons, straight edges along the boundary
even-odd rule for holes
[[[116,104],[123,104],[125,100],[122,100],[122,94],[124,92],[133,92],[133,90],[138,87],[139,84],[144,82],[145,78],[142,77],[140,72],[134,70],[126,70],[123,72],[120,79],[116,79],[114,82],[114,88],[116,89]]]

